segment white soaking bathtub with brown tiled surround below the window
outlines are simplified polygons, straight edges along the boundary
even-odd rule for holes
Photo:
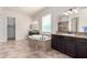
[[[29,36],[30,46],[37,51],[50,51],[51,50],[51,36],[48,35],[30,35]]]

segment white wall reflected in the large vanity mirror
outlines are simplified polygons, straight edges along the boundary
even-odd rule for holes
[[[73,18],[78,18],[78,32],[84,32],[83,26],[87,26],[87,8],[83,8],[79,10],[77,14],[69,15],[69,23],[72,23]],[[72,24],[69,24],[69,30],[72,29]]]

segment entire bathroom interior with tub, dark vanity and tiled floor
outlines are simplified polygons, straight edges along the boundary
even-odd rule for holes
[[[87,57],[86,11],[86,7],[0,8],[0,57]]]

